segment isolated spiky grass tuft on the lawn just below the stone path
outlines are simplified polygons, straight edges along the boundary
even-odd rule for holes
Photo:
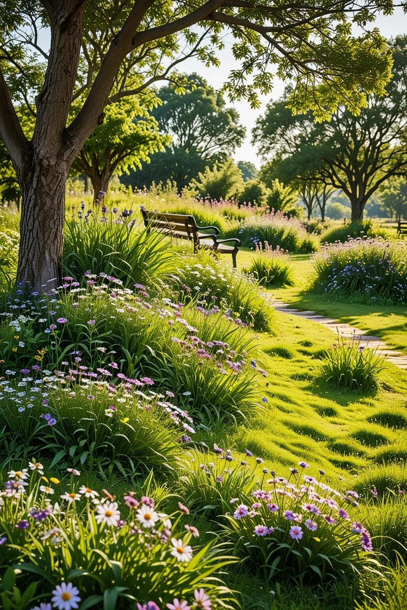
[[[338,337],[338,343],[322,357],[320,376],[337,389],[375,392],[380,386],[380,373],[386,368],[384,362],[376,350],[364,348],[355,339]]]

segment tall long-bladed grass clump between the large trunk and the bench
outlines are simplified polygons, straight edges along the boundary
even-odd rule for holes
[[[84,204],[82,204],[84,205]],[[104,211],[106,210],[106,211]],[[115,211],[116,210],[116,211]],[[66,221],[63,264],[65,273],[80,280],[86,271],[114,275],[128,287],[148,284],[167,273],[174,253],[157,231],[135,226],[132,210],[119,213],[102,205],[78,212]],[[137,222],[139,225],[139,222]]]

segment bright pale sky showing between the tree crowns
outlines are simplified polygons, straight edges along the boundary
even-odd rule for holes
[[[381,16],[375,23],[375,26],[380,29],[381,34],[386,37],[394,37],[398,34],[405,34],[407,32],[407,15],[403,13],[403,9],[398,7],[394,10],[394,14],[391,16]],[[232,38],[225,39],[225,50],[222,51],[222,64],[219,68],[211,66],[206,68],[198,59],[187,59],[182,62],[182,71],[190,74],[196,72],[207,80],[208,84],[212,85],[215,89],[221,88],[223,83],[228,80],[228,74],[230,70],[233,70],[238,62],[234,59],[231,52]],[[275,79],[272,96],[261,96],[261,108],[259,110],[252,110],[250,104],[245,101],[234,102],[229,106],[234,106],[240,114],[241,122],[247,128],[247,135],[243,145],[236,150],[234,159],[236,161],[251,161],[260,167],[260,159],[256,146],[251,145],[251,129],[256,123],[256,118],[259,117],[265,111],[267,102],[273,98],[279,98],[284,91],[284,83],[279,79]]]

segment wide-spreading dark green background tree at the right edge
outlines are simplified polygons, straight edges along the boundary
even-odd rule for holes
[[[407,170],[407,37],[391,41],[393,77],[387,95],[367,96],[355,116],[340,106],[330,121],[315,123],[312,113],[292,115],[292,95],[268,104],[253,131],[270,171],[292,179],[318,179],[341,188],[351,204],[351,220],[363,217],[369,198],[391,176]]]

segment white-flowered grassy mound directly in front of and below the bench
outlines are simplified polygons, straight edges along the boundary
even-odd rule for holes
[[[254,278],[226,267],[213,255],[202,251],[198,257],[185,256],[171,277],[173,289],[184,302],[202,301],[229,310],[229,315],[256,331],[270,331],[273,309],[264,300]]]

